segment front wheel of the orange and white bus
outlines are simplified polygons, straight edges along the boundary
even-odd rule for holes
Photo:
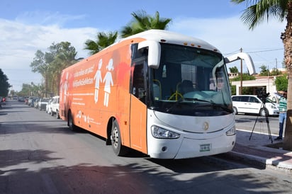
[[[120,127],[118,127],[116,120],[113,121],[113,126],[111,127],[111,147],[113,147],[113,152],[117,156],[124,156],[128,152],[128,148],[122,145]]]

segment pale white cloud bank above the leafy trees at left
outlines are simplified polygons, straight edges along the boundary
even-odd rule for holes
[[[96,28],[61,28],[59,25],[33,25],[0,19],[0,68],[8,76],[13,89],[21,91],[22,84],[40,84],[42,77],[31,72],[37,50],[47,51],[53,42],[71,42],[78,57],[87,57],[84,42],[95,38]]]

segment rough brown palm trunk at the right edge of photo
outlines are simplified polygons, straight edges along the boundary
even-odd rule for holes
[[[283,149],[292,151],[292,2],[288,2],[287,25],[281,35],[284,45],[284,57],[288,71],[287,119],[283,139]]]

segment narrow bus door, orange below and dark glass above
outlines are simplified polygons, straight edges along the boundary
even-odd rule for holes
[[[147,105],[145,60],[133,63],[130,100],[130,147],[147,154]]]

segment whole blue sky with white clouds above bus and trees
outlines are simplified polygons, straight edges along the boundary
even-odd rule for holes
[[[142,10],[171,18],[167,30],[205,40],[225,57],[242,48],[252,57],[257,72],[262,65],[283,67],[280,35],[286,21],[271,18],[249,30],[240,19],[245,6],[230,0],[0,1],[0,69],[14,91],[21,91],[22,84],[41,84],[42,76],[30,68],[37,50],[47,52],[52,43],[67,41],[77,50],[77,58],[86,58],[86,40],[96,40],[99,32],[119,32],[133,20],[131,13]],[[235,66],[240,70],[239,61],[228,64],[228,69]],[[243,72],[247,72],[245,64]]]

